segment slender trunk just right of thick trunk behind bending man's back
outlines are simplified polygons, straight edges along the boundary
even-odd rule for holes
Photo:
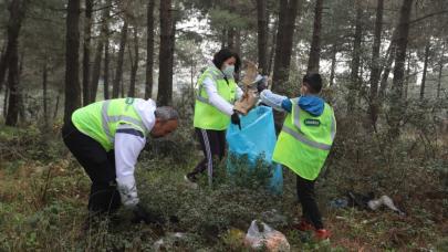
[[[91,39],[93,0],[85,0],[84,44],[83,44],[83,105],[91,103]]]

